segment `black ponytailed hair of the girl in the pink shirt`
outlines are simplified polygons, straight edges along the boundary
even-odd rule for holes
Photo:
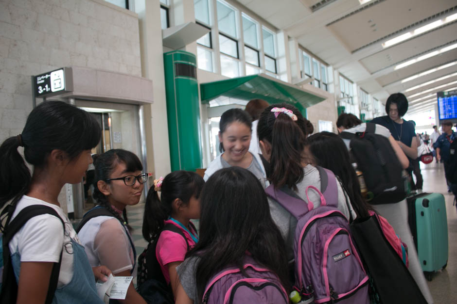
[[[176,198],[186,206],[192,196],[197,199],[200,197],[204,184],[203,178],[195,172],[180,170],[165,176],[160,188],[160,199],[158,191],[151,186],[144,206],[143,238],[148,242],[156,239],[158,232],[163,228],[163,222],[172,213],[172,205]]]

